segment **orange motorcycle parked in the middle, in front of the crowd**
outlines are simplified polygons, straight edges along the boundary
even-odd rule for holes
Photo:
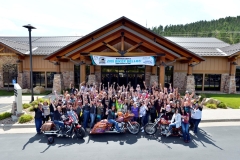
[[[128,130],[131,134],[137,134],[140,131],[140,125],[138,122],[132,122],[134,114],[124,114],[118,116],[116,119],[117,125],[120,130]],[[90,134],[103,134],[103,133],[120,133],[117,131],[116,127],[113,124],[109,123],[107,119],[97,122],[93,129],[90,131]]]

